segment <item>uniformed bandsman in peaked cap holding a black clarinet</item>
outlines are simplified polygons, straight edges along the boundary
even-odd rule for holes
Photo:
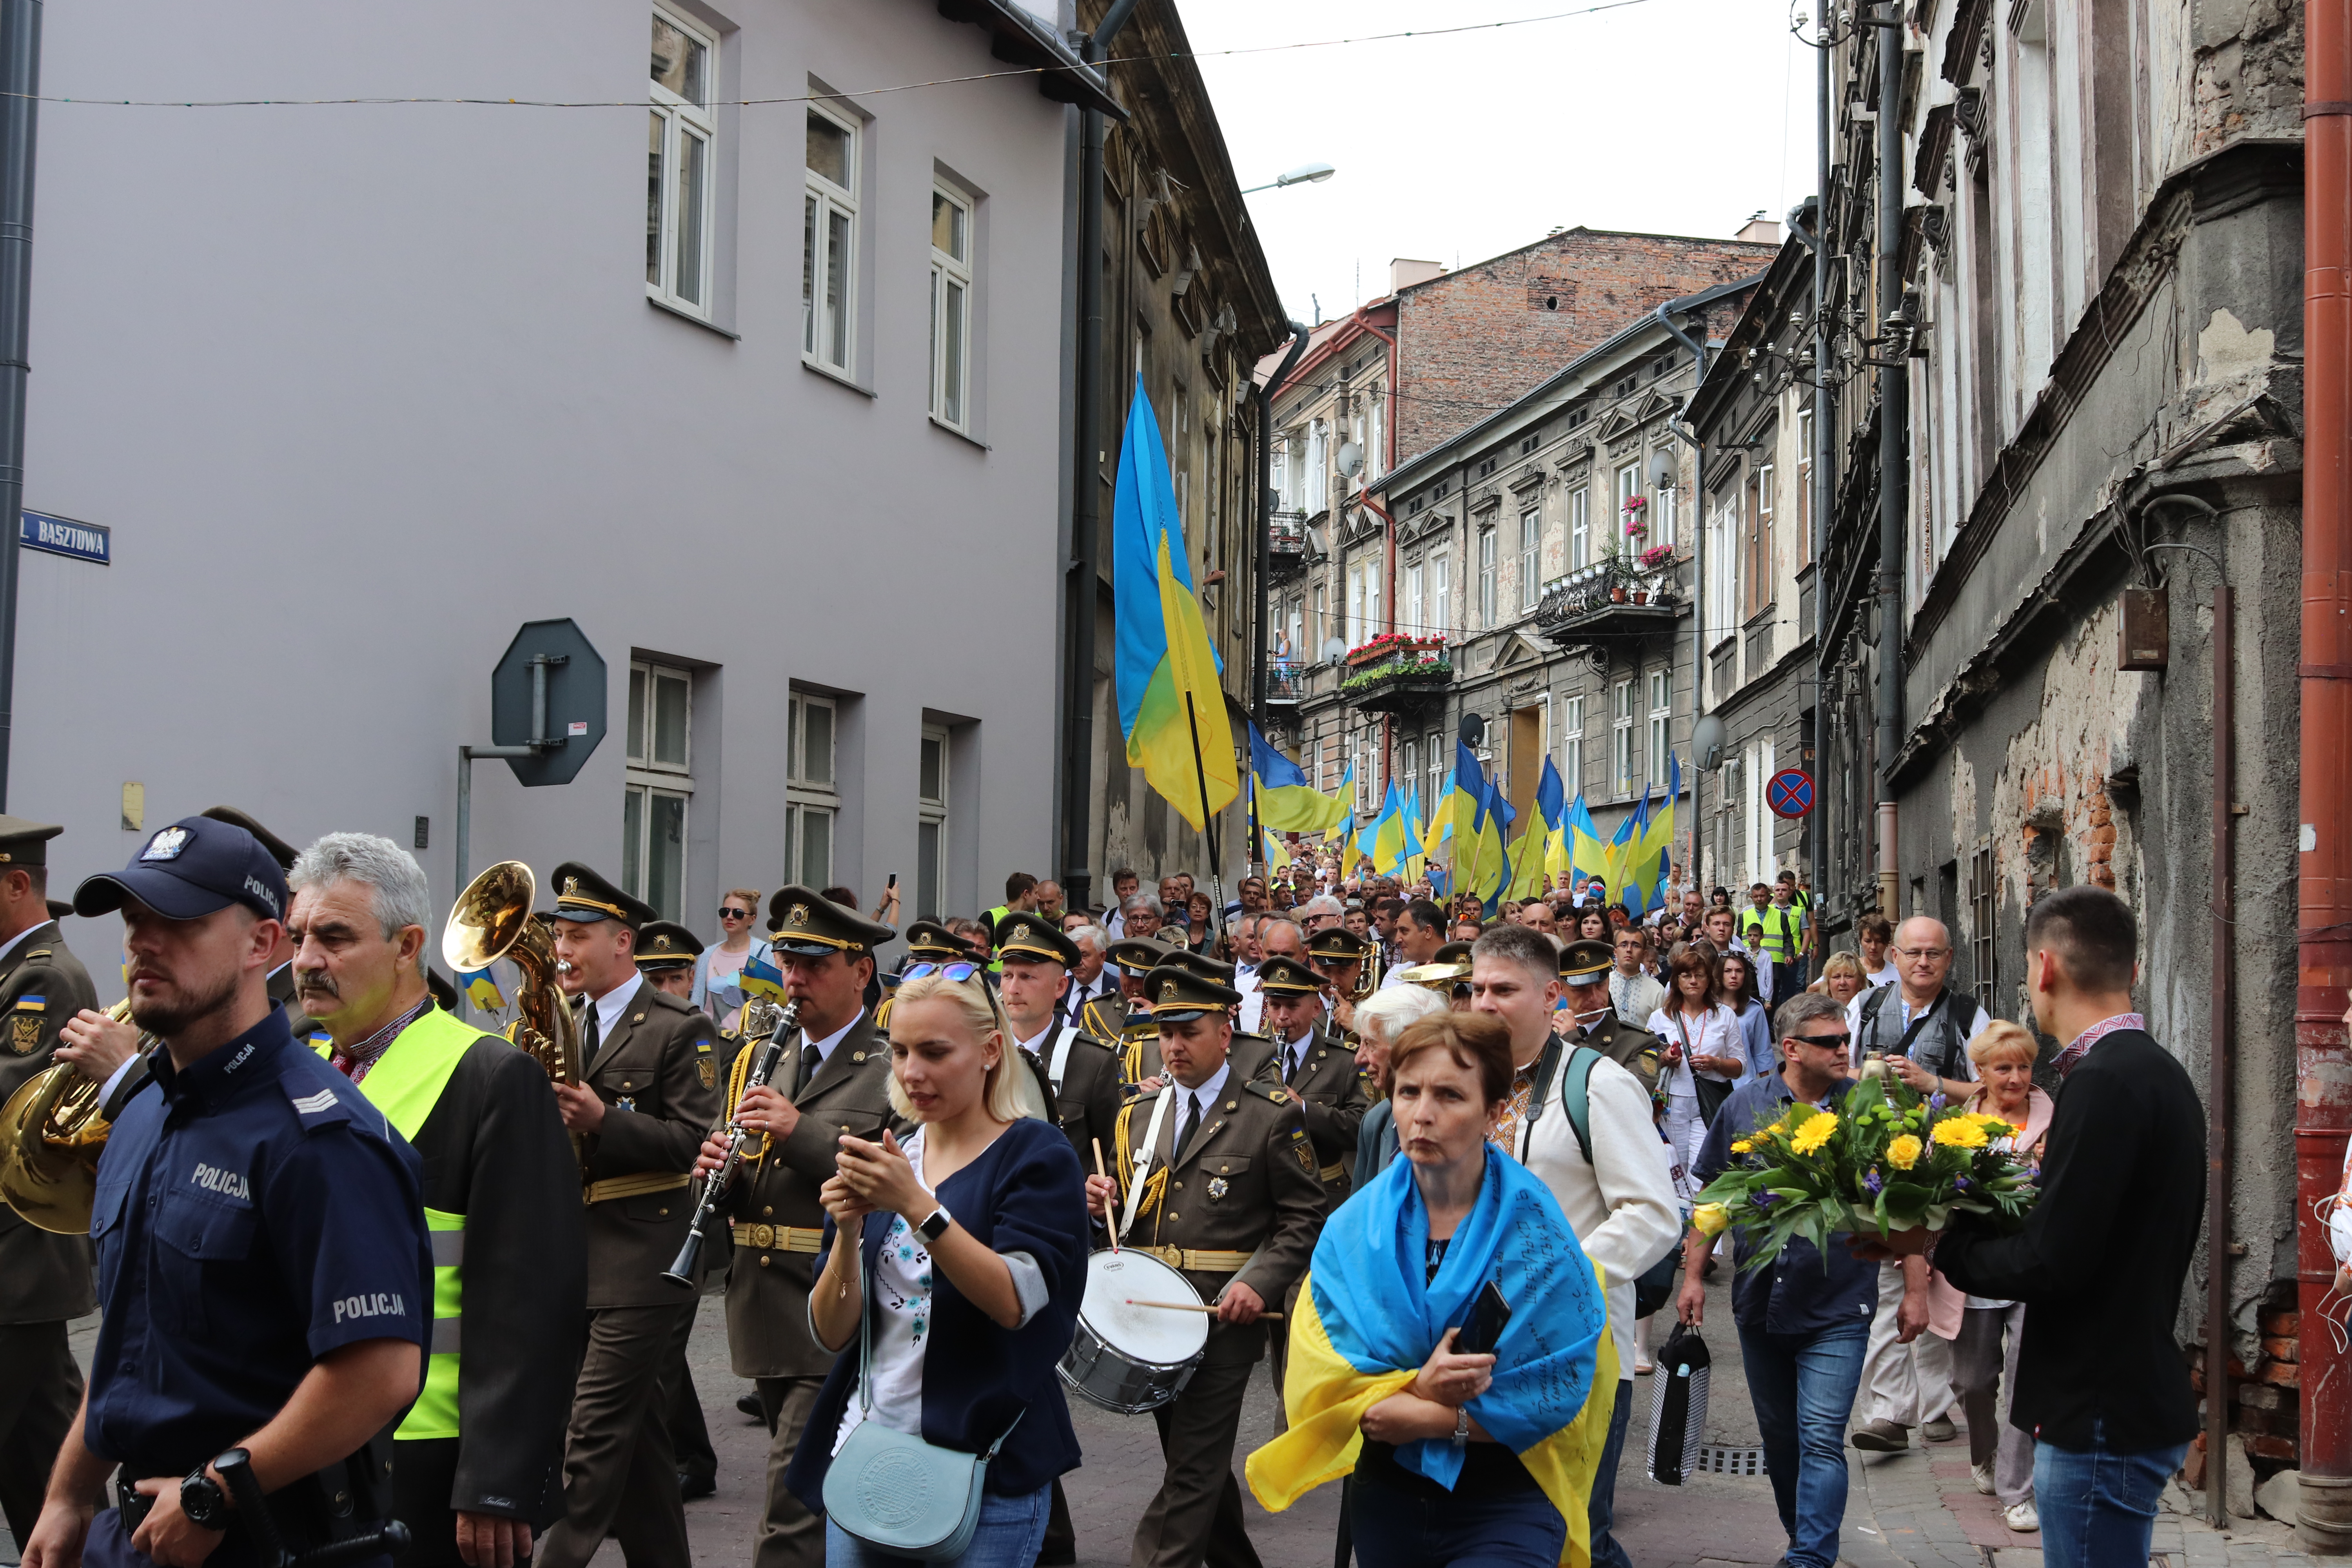
[[[769,1429],[767,1514],[753,1563],[821,1568],[826,1521],[783,1486],[800,1432],[833,1371],[833,1354],[809,1335],[809,1281],[826,1234],[816,1192],[833,1178],[842,1133],[873,1140],[894,1121],[889,1044],[866,1013],[866,983],[875,947],[896,933],[804,886],[776,889],[767,910],[783,990],[800,1004],[800,1030],[774,1084],[746,1088],[753,1060],[746,1051],[727,1086],[729,1114],[762,1135],[727,1192],[734,1220],[727,1352],[739,1378],[757,1380]],[[908,936],[929,924],[915,922]],[[946,938],[946,931],[938,936]],[[976,959],[955,940],[953,961]],[[703,1161],[715,1166],[724,1150],[724,1138],[713,1135]]]

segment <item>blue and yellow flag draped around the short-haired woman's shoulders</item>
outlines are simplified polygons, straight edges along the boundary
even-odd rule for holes
[[[1249,1455],[1249,1490],[1282,1512],[1352,1474],[1364,1410],[1414,1382],[1446,1328],[1463,1324],[1494,1279],[1515,1312],[1496,1345],[1494,1382],[1468,1410],[1519,1455],[1559,1509],[1569,1526],[1562,1566],[1588,1568],[1592,1479],[1618,1392],[1599,1269],[1543,1182],[1501,1154],[1489,1154],[1479,1197],[1435,1279],[1425,1279],[1428,1232],[1430,1215],[1404,1159],[1371,1182],[1367,1199],[1341,1204],[1324,1220],[1289,1324],[1282,1382],[1289,1429]],[[1463,1472],[1463,1450],[1446,1439],[1402,1443],[1395,1458],[1446,1490]]]

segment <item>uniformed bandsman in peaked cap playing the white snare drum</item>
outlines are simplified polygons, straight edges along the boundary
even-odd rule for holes
[[[1167,1469],[1127,1561],[1254,1568],[1232,1436],[1265,1354],[1261,1314],[1315,1251],[1322,1182],[1298,1103],[1282,1084],[1244,1081],[1225,1056],[1242,992],[1174,964],[1150,971],[1148,987],[1169,1081],[1120,1112],[1117,1168],[1087,1178],[1087,1204],[1120,1225],[1134,1192],[1127,1246],[1181,1269],[1216,1321],[1183,1394],[1152,1410]]]

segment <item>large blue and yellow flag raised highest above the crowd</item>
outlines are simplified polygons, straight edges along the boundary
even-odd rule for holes
[[[1110,536],[1110,588],[1120,616],[1112,675],[1127,764],[1143,769],[1145,783],[1176,806],[1176,816],[1204,830],[1242,792],[1242,778],[1232,766],[1216,649],[1192,597],[1167,447],[1160,444],[1160,421],[1141,376],[1127,404]]]

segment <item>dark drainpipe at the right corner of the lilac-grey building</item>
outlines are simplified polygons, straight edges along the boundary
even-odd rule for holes
[[[21,5],[26,0],[0,0]],[[1138,0],[1112,0],[1094,33],[1077,38],[1089,66],[1103,61],[1110,40],[1136,14]],[[1091,903],[1094,875],[1087,865],[1094,839],[1094,639],[1103,534],[1103,136],[1098,108],[1080,110],[1077,143],[1077,463],[1070,487],[1070,562],[1063,581],[1063,623],[1070,628],[1063,670],[1061,748],[1061,889],[1068,907]]]

